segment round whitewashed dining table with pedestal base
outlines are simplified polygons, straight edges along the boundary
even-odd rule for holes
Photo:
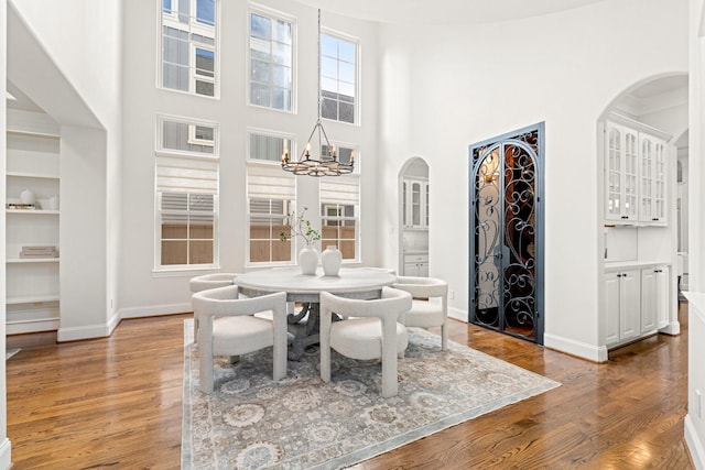
[[[235,278],[239,292],[247,297],[285,292],[288,302],[302,304],[300,311],[288,316],[292,336],[291,360],[301,359],[305,347],[318,341],[322,292],[340,297],[372,299],[379,298],[382,287],[394,282],[397,276],[391,271],[377,267],[341,267],[337,276],[324,275],[321,266],[314,275],[302,274],[299,266],[272,267],[250,271]]]

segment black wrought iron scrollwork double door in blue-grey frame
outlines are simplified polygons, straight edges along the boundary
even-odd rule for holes
[[[475,325],[543,345],[543,122],[470,146]]]

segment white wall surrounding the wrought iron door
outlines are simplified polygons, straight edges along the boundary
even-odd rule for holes
[[[380,177],[411,155],[429,163],[431,274],[456,291],[451,308],[468,308],[468,265],[457,263],[468,259],[468,145],[545,121],[545,343],[598,358],[596,122],[633,84],[686,72],[686,19],[685,0],[619,0],[473,28],[384,29]],[[395,215],[381,219],[380,233],[397,226]]]

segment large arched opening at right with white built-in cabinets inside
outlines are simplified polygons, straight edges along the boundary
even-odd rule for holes
[[[688,127],[687,84],[687,75],[682,73],[646,78],[620,92],[598,119],[598,168],[605,174],[597,205],[600,221],[597,248],[604,267],[598,291],[600,305],[605,306],[599,311],[599,331],[607,352],[653,330],[668,335],[680,332],[677,277],[683,273],[679,270],[676,252],[687,260],[687,244],[680,243],[683,239],[679,238],[679,227],[684,223],[687,227],[687,219],[679,207],[687,207],[687,190],[683,192],[683,183],[677,181],[677,162],[685,163],[687,168],[687,138],[679,139],[687,133]],[[620,127],[623,139],[614,139],[618,135],[615,124]],[[644,146],[653,136],[665,149],[664,156],[660,157],[662,163]],[[627,155],[629,140],[638,144]],[[619,170],[616,162],[621,165]],[[627,168],[629,162],[634,165],[632,170]],[[652,168],[658,170],[658,179],[650,173]],[[681,173],[682,177],[686,171]],[[660,185],[662,190],[658,189]],[[627,193],[631,199],[626,197]],[[655,198],[663,200],[663,215],[650,219],[649,209],[654,206],[649,204]],[[622,212],[630,208],[632,214],[625,218],[631,220],[615,220],[610,212],[615,200]],[[637,204],[628,206],[630,201]],[[653,286],[649,263],[657,261],[659,265],[653,272],[660,280]],[[687,261],[684,264],[686,270]],[[615,280],[620,275],[621,281]],[[633,286],[628,287],[632,281]],[[652,291],[657,291],[658,302],[641,302],[641,296]],[[622,299],[623,306],[618,305]],[[653,305],[658,307],[651,308]]]

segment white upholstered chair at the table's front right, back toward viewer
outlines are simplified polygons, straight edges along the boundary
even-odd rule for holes
[[[343,298],[321,293],[321,379],[330,382],[330,348],[357,360],[381,359],[383,397],[397,395],[397,359],[403,358],[409,343],[401,323],[411,308],[411,295],[382,287],[382,297],[373,300]],[[332,321],[336,313],[344,319]]]

